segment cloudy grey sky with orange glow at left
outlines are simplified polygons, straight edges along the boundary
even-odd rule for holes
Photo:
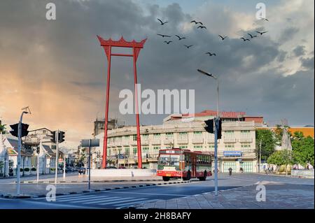
[[[56,20],[45,18],[49,2],[55,3]],[[270,124],[314,124],[314,1],[263,1],[269,22],[255,17],[259,2],[2,0],[0,120],[14,124],[29,106],[31,114],[23,119],[29,129],[66,131],[73,148],[91,138],[93,121],[104,117],[106,96],[107,60],[99,35],[148,38],[137,60],[141,89],[195,89],[196,112],[215,110],[217,103],[216,82],[197,73],[203,69],[220,79],[221,110],[261,115]],[[157,18],[168,23],[160,25]],[[255,31],[268,32],[240,39]],[[228,38],[222,41],[219,34]],[[112,59],[109,116],[135,124],[134,115],[118,110],[122,89],[134,89],[129,57]],[[140,122],[161,124],[166,116],[141,114]]]

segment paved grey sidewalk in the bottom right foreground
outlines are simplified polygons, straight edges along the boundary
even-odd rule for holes
[[[256,201],[257,185],[239,187],[187,196],[167,201],[155,201],[133,206],[137,209],[314,209],[314,185],[284,185],[277,182],[261,182],[266,188],[266,201]]]

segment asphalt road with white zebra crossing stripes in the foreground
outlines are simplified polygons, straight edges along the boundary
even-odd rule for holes
[[[253,185],[258,181],[279,182],[286,185],[308,185],[314,188],[314,179],[286,178],[260,174],[234,174],[232,176],[220,174],[218,189],[232,189]],[[56,201],[46,201],[45,198],[36,199],[0,199],[0,208],[127,208],[129,206],[158,200],[174,199],[193,196],[214,191],[214,178],[207,181],[175,185],[157,185],[114,191],[92,192],[87,194],[69,194],[56,196]]]

